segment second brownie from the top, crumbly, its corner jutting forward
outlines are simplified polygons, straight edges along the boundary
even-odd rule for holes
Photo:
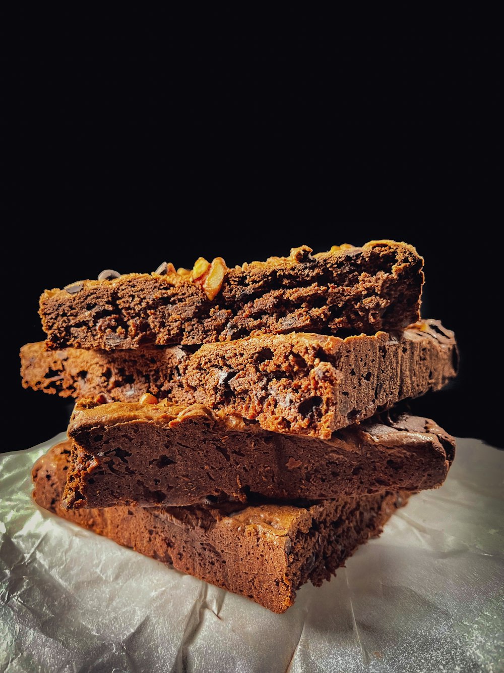
[[[453,332],[423,320],[400,334],[262,334],[228,343],[136,351],[22,349],[23,385],[62,396],[145,392],[173,403],[257,419],[276,432],[328,439],[405,398],[439,390],[456,375]]]

